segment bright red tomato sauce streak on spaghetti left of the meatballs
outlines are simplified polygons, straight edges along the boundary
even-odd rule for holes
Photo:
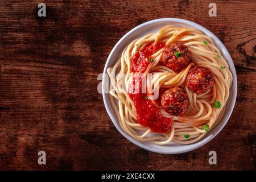
[[[148,56],[151,56],[155,52],[159,51],[159,49],[163,48],[164,45],[164,43],[159,43],[156,46],[150,44],[142,51],[135,53],[133,59],[131,60],[131,72],[145,72],[150,64]],[[135,92],[136,85],[139,86],[139,93]],[[134,77],[132,84],[129,86],[129,96],[131,100],[133,100],[136,107],[138,123],[142,126],[150,127],[150,130],[155,133],[165,133],[170,131],[172,119],[163,117],[159,108],[148,99],[148,94],[141,92],[142,85],[142,79],[135,79]]]

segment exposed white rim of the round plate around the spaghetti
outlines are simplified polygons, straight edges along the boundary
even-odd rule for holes
[[[104,68],[104,73],[107,73],[107,68],[113,66],[116,61],[121,57],[121,53],[123,49],[130,44],[131,41],[133,41],[136,38],[140,38],[143,35],[149,34],[151,32],[158,32],[160,28],[166,26],[167,24],[174,24],[177,26],[181,27],[192,27],[196,28],[197,30],[200,30],[204,34],[208,35],[218,49],[220,49],[222,55],[225,57],[225,59],[228,61],[230,71],[232,72],[233,75],[233,83],[230,88],[230,95],[228,98],[228,101],[226,102],[226,111],[225,114],[218,123],[216,127],[214,127],[212,130],[210,130],[207,135],[205,135],[201,140],[197,141],[196,143],[192,144],[177,144],[177,143],[172,143],[171,145],[166,145],[166,146],[159,146],[156,144],[152,144],[149,142],[141,142],[138,140],[135,140],[133,137],[130,135],[126,134],[125,131],[123,131],[119,125],[117,116],[115,115],[115,112],[113,110],[113,107],[110,103],[109,100],[109,94],[108,90],[105,90],[105,86],[102,86],[102,95],[103,95],[103,100],[104,104],[106,107],[106,110],[108,111],[109,117],[112,119],[112,122],[114,123],[115,127],[117,130],[130,142],[136,144],[139,147],[142,147],[148,151],[152,152],[157,152],[161,154],[179,154],[183,152],[188,152],[195,150],[196,148],[199,148],[203,146],[204,144],[208,143],[211,139],[213,139],[220,131],[221,129],[226,125],[226,123],[229,120],[230,115],[232,114],[232,111],[234,109],[234,105],[236,102],[236,97],[237,97],[237,75],[236,75],[236,69],[234,67],[233,60],[231,56],[229,55],[228,50],[224,46],[224,44],[221,43],[221,41],[217,38],[217,36],[213,35],[212,32],[207,30],[206,28],[200,26],[197,23],[193,23],[189,20],[184,20],[184,19],[178,19],[178,18],[162,18],[162,19],[155,19],[151,20],[149,22],[143,23],[135,28],[133,30],[129,31],[125,36],[122,37],[118,41],[117,44],[115,44],[114,48],[110,52],[110,55],[108,57],[108,60],[106,61],[105,68]],[[106,83],[106,79],[109,79],[105,74],[102,78],[102,83]]]

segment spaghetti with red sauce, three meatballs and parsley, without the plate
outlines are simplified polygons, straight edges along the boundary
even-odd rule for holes
[[[159,145],[203,138],[224,115],[232,84],[213,40],[174,25],[133,40],[108,75],[122,130]]]

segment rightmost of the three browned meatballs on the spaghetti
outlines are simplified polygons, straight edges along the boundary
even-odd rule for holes
[[[188,72],[186,82],[193,92],[205,93],[212,89],[214,76],[209,68],[196,66]]]

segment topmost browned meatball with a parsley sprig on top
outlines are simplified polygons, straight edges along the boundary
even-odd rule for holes
[[[164,47],[162,61],[166,67],[179,73],[191,63],[191,52],[184,44],[172,43]]]

